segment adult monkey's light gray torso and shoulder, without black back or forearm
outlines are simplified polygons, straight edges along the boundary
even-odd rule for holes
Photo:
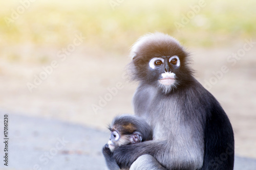
[[[156,142],[166,142],[163,153],[156,159],[168,160],[169,164],[164,164],[167,168],[182,164],[197,169],[203,164],[205,115],[202,113],[205,110],[199,106],[202,101],[198,91],[204,89],[191,86],[185,91],[165,95],[153,86],[143,85],[134,95],[135,114],[145,118],[153,132],[157,132],[153,133]]]

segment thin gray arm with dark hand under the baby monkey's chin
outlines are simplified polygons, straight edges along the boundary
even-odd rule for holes
[[[106,165],[110,170],[119,170],[120,167],[116,163],[115,159],[113,158],[113,153],[110,151],[108,144],[105,144],[102,153],[104,155]]]

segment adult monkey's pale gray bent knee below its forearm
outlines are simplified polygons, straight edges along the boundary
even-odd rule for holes
[[[130,170],[166,170],[152,155],[142,155],[133,162]]]

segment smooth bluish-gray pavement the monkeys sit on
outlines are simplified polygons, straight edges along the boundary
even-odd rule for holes
[[[9,138],[8,167],[1,161],[0,169],[106,169],[101,148],[108,141],[108,130],[9,114]],[[256,160],[236,156],[234,169],[256,170]]]

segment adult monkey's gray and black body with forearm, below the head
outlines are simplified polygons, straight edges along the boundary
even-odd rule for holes
[[[117,148],[113,157],[120,167],[233,169],[234,141],[229,119],[197,80],[168,94],[141,84],[133,103],[135,114],[152,126],[153,140]],[[152,159],[138,159],[145,154]]]

